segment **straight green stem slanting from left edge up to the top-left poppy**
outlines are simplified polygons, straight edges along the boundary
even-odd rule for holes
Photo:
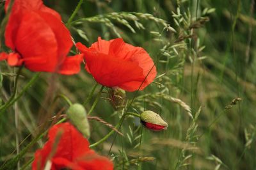
[[[4,111],[6,111],[6,109],[8,109],[11,105],[13,105],[17,100],[19,100],[20,97],[22,97],[22,95],[28,90],[28,88],[30,86],[32,86],[36,80],[38,79],[40,73],[36,73],[32,79],[28,82],[28,84],[26,84],[26,86],[22,89],[22,91],[20,91],[19,95],[17,95],[15,98],[13,98],[12,100],[10,100],[10,102],[6,102],[6,104],[4,104],[1,108],[0,108],[0,115],[3,114]]]

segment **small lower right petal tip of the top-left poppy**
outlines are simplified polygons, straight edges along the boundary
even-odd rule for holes
[[[61,64],[60,70],[61,74],[72,75],[74,73],[80,72],[80,65],[83,61],[83,54],[78,54],[76,56],[67,57],[65,61]]]

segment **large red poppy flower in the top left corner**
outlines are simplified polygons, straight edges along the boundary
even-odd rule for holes
[[[10,0],[6,1],[5,10]],[[24,64],[33,72],[79,72],[83,55],[67,57],[72,47],[60,15],[42,0],[15,0],[5,30],[5,43],[14,53],[3,54],[10,66]]]

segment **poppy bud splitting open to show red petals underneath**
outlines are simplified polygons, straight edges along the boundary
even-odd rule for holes
[[[166,130],[168,124],[157,114],[152,111],[144,111],[140,114],[142,125],[150,130],[161,131]]]

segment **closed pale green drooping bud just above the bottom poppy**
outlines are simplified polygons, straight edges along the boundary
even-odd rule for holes
[[[83,105],[71,105],[67,110],[67,117],[76,126],[77,130],[79,130],[84,135],[84,137],[90,137],[90,126]]]

